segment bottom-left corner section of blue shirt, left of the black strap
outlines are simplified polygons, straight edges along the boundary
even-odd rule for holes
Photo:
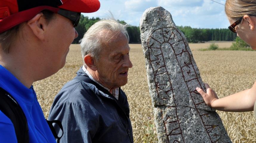
[[[17,143],[12,121],[0,110],[0,143]]]

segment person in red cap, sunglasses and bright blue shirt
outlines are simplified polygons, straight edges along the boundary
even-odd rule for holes
[[[99,7],[98,0],[0,0],[0,93],[21,107],[28,131],[17,134],[17,122],[0,110],[0,142],[56,142],[32,83],[65,65],[81,12]]]

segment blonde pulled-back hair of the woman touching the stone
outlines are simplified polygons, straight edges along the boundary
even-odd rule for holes
[[[233,20],[244,15],[256,16],[256,0],[226,0],[225,12]]]

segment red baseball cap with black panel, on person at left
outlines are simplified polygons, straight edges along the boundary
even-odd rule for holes
[[[90,13],[99,8],[99,0],[0,0],[0,33],[30,20],[43,10]]]

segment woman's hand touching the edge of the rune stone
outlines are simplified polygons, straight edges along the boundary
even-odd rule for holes
[[[204,99],[204,102],[205,102],[208,106],[214,108],[213,102],[218,99],[218,96],[217,96],[217,94],[215,93],[215,91],[212,90],[212,89],[210,88],[210,86],[209,86],[207,83],[204,83],[204,86],[205,86],[205,88],[206,88],[206,93],[205,93],[201,88],[199,88],[199,87],[196,88],[196,91],[201,94],[201,96],[202,96],[203,99]]]

